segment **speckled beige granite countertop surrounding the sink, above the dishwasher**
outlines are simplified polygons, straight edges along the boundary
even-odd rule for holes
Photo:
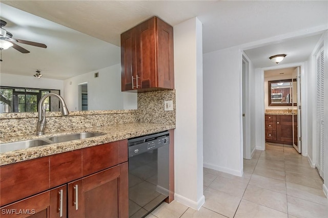
[[[35,158],[59,154],[66,151],[76,150],[80,148],[90,147],[94,145],[114,142],[122,139],[129,139],[132,137],[161,132],[168,129],[175,128],[174,124],[158,124],[158,123],[127,123],[108,126],[97,126],[91,128],[81,128],[75,130],[68,130],[65,132],[46,133],[43,136],[19,136],[3,138],[1,143],[23,141],[38,138],[49,138],[52,136],[68,135],[83,132],[93,132],[104,134],[103,136],[91,137],[87,139],[80,139],[74,141],[67,141],[61,143],[53,143],[49,145],[42,145],[26,149],[14,150],[0,153],[0,166],[31,160]]]

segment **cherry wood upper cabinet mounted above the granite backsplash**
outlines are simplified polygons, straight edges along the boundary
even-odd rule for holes
[[[173,27],[158,17],[122,33],[122,91],[174,89],[173,59]]]

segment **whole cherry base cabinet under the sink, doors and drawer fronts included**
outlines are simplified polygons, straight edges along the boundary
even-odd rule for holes
[[[0,176],[1,217],[128,217],[127,140],[1,166]]]

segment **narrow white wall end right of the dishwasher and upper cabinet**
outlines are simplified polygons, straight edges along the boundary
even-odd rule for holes
[[[203,195],[202,26],[197,18],[174,26],[176,129],[175,200],[199,209]]]

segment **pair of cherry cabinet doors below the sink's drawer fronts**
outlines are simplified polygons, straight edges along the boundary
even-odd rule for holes
[[[121,173],[122,172],[122,173]],[[128,217],[128,163],[1,208],[1,217]]]

